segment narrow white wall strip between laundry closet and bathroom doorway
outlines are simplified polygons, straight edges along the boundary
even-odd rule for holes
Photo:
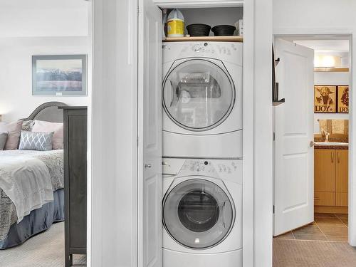
[[[253,28],[253,266],[269,267],[272,266],[273,235],[273,113],[271,93],[273,4],[272,0],[255,0],[253,2],[255,4]],[[251,46],[251,43],[246,44],[246,46]],[[246,71],[245,68],[244,71]],[[244,147],[245,149],[249,149],[249,147]],[[246,179],[248,177],[244,177],[244,181]]]

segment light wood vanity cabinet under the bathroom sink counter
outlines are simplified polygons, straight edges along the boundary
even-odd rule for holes
[[[348,150],[315,149],[315,206],[347,207],[347,192]],[[335,212],[337,211],[339,210],[335,210]]]

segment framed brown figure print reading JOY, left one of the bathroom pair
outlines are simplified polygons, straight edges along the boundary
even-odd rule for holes
[[[336,112],[336,86],[333,85],[314,86],[314,112],[315,113]]]

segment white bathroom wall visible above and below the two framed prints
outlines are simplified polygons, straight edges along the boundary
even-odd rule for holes
[[[315,72],[315,85],[349,85],[350,73]],[[348,120],[348,113],[314,113],[314,133],[320,133],[320,120]]]

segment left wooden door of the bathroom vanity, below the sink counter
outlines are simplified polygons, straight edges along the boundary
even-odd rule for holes
[[[314,150],[315,192],[335,192],[335,150]]]

